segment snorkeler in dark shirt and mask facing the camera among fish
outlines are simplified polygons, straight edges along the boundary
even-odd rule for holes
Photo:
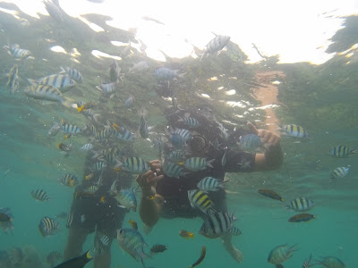
[[[149,228],[158,222],[160,216],[165,218],[194,218],[197,216],[201,216],[204,219],[208,218],[208,214],[204,214],[199,209],[192,207],[188,198],[188,191],[197,189],[198,183],[203,178],[212,177],[218,181],[223,181],[226,172],[269,171],[279,168],[283,161],[280,137],[271,131],[258,130],[251,123],[248,123],[251,132],[260,137],[266,148],[265,152],[234,151],[231,147],[234,147],[236,143],[236,141],[233,143],[235,138],[223,135],[223,130],[225,129],[211,113],[199,110],[191,111],[190,117],[200,122],[200,127],[195,128],[184,125],[185,122],[181,120],[183,113],[183,111],[171,113],[167,116],[167,119],[173,128],[191,130],[192,138],[186,142],[185,146],[186,159],[196,157],[196,159],[200,158],[208,161],[215,160],[209,163],[212,168],[207,164],[206,167],[200,167],[199,171],[182,173],[179,179],[170,177],[166,172],[163,172],[162,164],[165,165],[166,163],[162,163],[160,160],[150,162],[157,169],[157,172],[149,171],[137,178],[142,189],[141,220]],[[247,134],[239,132],[240,130],[235,131],[234,135]],[[166,147],[169,151],[175,149],[172,148],[172,144],[166,145]],[[189,170],[188,168],[186,169]],[[208,196],[214,204],[213,208],[216,212],[227,213],[226,192],[223,188],[209,192]],[[222,236],[222,239],[226,251],[237,262],[242,262],[243,255],[232,244],[231,234],[226,233]]]

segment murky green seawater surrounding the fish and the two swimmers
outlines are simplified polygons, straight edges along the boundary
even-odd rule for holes
[[[13,5],[0,4],[2,7],[16,9]],[[21,14],[21,13],[20,13]],[[28,98],[23,88],[28,86],[27,78],[38,79],[59,71],[59,66],[73,66],[81,71],[85,80],[65,96],[76,101],[98,102],[96,112],[102,116],[124,122],[124,125],[138,132],[139,112],[144,107],[148,111],[149,125],[156,125],[156,131],[163,131],[166,120],[162,110],[171,105],[165,97],[156,91],[157,81],[153,71],[163,65],[148,59],[151,67],[141,74],[131,74],[124,78],[120,88],[120,96],[102,101],[95,88],[101,79],[107,80],[109,65],[113,60],[96,58],[90,52],[93,49],[108,54],[119,54],[109,40],[128,42],[133,37],[130,33],[107,27],[107,33],[94,33],[79,20],[56,23],[51,17],[35,20],[22,14],[30,21],[23,26],[13,16],[0,12],[0,45],[18,43],[29,49],[34,59],[14,61],[13,57],[0,50],[0,73],[7,73],[13,64],[19,65],[20,88],[11,95],[5,88],[6,79],[0,80],[0,207],[10,207],[14,220],[13,235],[0,230],[0,250],[12,247],[34,247],[38,252],[43,267],[49,252],[63,252],[68,230],[66,220],[59,220],[61,230],[49,238],[42,238],[38,232],[38,222],[43,216],[54,217],[60,212],[69,212],[72,204],[73,188],[62,186],[57,178],[65,173],[74,173],[79,178],[83,175],[84,154],[74,150],[69,157],[64,157],[57,149],[59,142],[67,142],[60,132],[55,137],[48,137],[47,131],[53,121],[69,121],[83,127],[87,120],[75,110],[60,104],[41,104],[40,101]],[[67,18],[68,20],[69,18]],[[100,24],[101,16],[88,16]],[[345,19],[343,29],[333,38],[335,46],[330,53],[342,52],[355,43],[354,25],[356,17]],[[45,39],[54,39],[49,43]],[[74,63],[69,54],[54,53],[51,46],[63,46],[67,51],[78,48],[81,63]],[[237,264],[222,247],[221,239],[206,239],[199,234],[202,220],[196,219],[160,219],[146,242],[151,247],[163,244],[168,247],[165,253],[146,260],[148,267],[183,268],[189,267],[200,256],[202,246],[207,247],[207,255],[199,267],[242,267],[264,268],[274,267],[268,264],[270,250],[278,245],[297,244],[298,250],[285,262],[285,267],[302,267],[304,259],[310,254],[313,258],[333,255],[344,261],[346,267],[358,267],[358,155],[347,158],[334,158],[328,151],[337,145],[358,147],[358,54],[348,59],[336,54],[322,65],[309,63],[277,64],[262,61],[257,64],[246,64],[245,54],[237,46],[217,57],[208,58],[205,64],[198,59],[185,58],[180,63],[168,63],[173,69],[180,68],[187,74],[183,80],[172,85],[177,89],[178,103],[184,105],[202,105],[213,109],[219,121],[225,121],[226,127],[244,127],[246,121],[263,121],[262,110],[249,110],[259,107],[260,103],[251,97],[251,88],[256,71],[283,71],[286,79],[278,86],[278,100],[285,104],[276,108],[278,118],[285,123],[302,125],[311,136],[310,140],[295,143],[296,139],[282,137],[285,152],[284,163],[280,169],[272,172],[254,172],[227,174],[230,180],[226,184],[227,204],[230,212],[235,213],[234,223],[243,234],[234,237],[234,246],[243,252],[243,263]],[[233,52],[234,51],[234,52]],[[231,52],[231,54],[229,53]],[[238,61],[232,54],[241,54]],[[126,73],[132,63],[138,63],[144,56],[134,50],[132,56],[120,62],[122,71]],[[43,59],[46,59],[44,61]],[[272,58],[275,60],[275,58]],[[166,64],[166,63],[165,63]],[[225,74],[224,76],[220,76]],[[98,78],[99,76],[99,78]],[[209,78],[217,76],[218,80],[209,82]],[[237,80],[229,80],[236,77]],[[237,88],[234,96],[223,95],[218,87]],[[210,99],[200,94],[208,94]],[[130,111],[123,101],[130,95],[135,96],[135,106]],[[249,105],[227,106],[227,101],[247,102]],[[246,112],[246,113],[245,113]],[[240,115],[238,117],[237,115]],[[102,121],[102,120],[101,120]],[[105,122],[105,121],[104,121]],[[88,142],[88,138],[75,136],[70,139],[74,147],[79,148]],[[148,140],[138,135],[133,145],[136,155],[143,159],[158,158],[157,149]],[[349,174],[341,180],[330,180],[330,172],[339,166],[350,165]],[[8,171],[2,178],[2,174]],[[133,185],[136,185],[133,176]],[[51,198],[49,202],[38,202],[30,196],[33,189],[42,188]],[[262,197],[257,193],[259,188],[271,188],[286,199],[286,204]],[[292,223],[288,218],[294,215],[286,210],[286,206],[295,197],[309,197],[315,202],[311,214],[317,219],[311,222]],[[137,193],[140,198],[140,193]],[[130,218],[142,223],[137,213],[126,214],[124,227],[130,228]],[[194,239],[183,239],[179,230],[194,232]],[[83,245],[83,250],[93,247],[93,234]],[[122,253],[114,240],[112,247],[113,268],[142,267],[128,254]],[[87,264],[86,267],[92,267]],[[33,267],[26,266],[21,267]],[[38,266],[37,266],[38,267]],[[1,268],[1,267],[0,267]]]

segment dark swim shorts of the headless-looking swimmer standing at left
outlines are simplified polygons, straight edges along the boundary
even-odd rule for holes
[[[74,198],[66,226],[84,229],[88,233],[97,230],[115,239],[116,230],[122,227],[127,210],[119,207],[114,197],[107,197],[104,202],[100,202],[99,198]]]

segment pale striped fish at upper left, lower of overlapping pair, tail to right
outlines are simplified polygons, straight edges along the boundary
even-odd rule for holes
[[[46,86],[46,85],[32,86],[32,87],[25,88],[24,92],[27,96],[30,96],[35,99],[59,102],[60,104],[66,106],[67,108],[77,107],[77,105],[73,103],[71,98],[63,96],[60,90],[52,86]]]

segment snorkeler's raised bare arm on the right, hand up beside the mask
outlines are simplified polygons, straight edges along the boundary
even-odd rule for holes
[[[281,166],[284,158],[280,145],[281,138],[270,130],[258,130],[251,122],[247,123],[250,130],[261,138],[266,151],[263,154],[255,155],[254,170],[270,171]]]

